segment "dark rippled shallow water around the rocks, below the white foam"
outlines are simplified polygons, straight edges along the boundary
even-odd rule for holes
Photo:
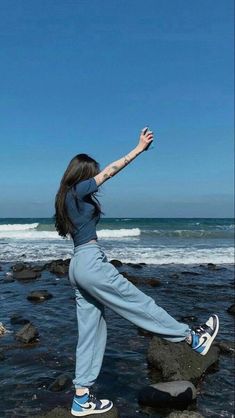
[[[66,277],[58,278],[48,271],[35,281],[3,283],[11,263],[2,263],[0,271],[0,321],[10,333],[0,337],[0,348],[6,359],[1,361],[0,417],[34,416],[60,405],[70,407],[73,387],[51,392],[48,386],[61,373],[73,378],[77,322],[73,289]],[[234,317],[226,312],[233,303],[233,266],[220,265],[221,270],[209,270],[198,264],[146,265],[142,269],[123,268],[142,277],[158,277],[162,286],[140,286],[156,303],[176,319],[194,315],[203,322],[212,312],[220,316],[218,339],[232,341]],[[120,269],[120,271],[122,271]],[[170,273],[196,271],[200,275]],[[30,291],[47,289],[53,298],[42,303],[26,299]],[[10,317],[20,314],[39,330],[39,341],[31,348],[14,348],[14,332],[22,325],[12,325]],[[121,418],[166,416],[169,411],[140,407],[137,394],[142,386],[154,383],[147,367],[146,352],[149,339],[138,329],[106,308],[108,340],[103,367],[96,383],[97,393],[109,397],[118,407]],[[7,348],[8,347],[8,348]],[[234,411],[233,373],[230,356],[220,356],[218,370],[207,374],[200,384],[196,409],[205,417],[232,417]]]

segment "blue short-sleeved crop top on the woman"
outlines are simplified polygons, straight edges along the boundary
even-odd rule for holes
[[[75,225],[72,239],[74,247],[76,247],[77,245],[85,244],[91,239],[97,239],[96,224],[99,222],[100,215],[92,218],[94,206],[86,199],[88,195],[98,191],[94,177],[78,182],[73,190],[78,199],[79,211],[71,189],[67,192],[65,204],[67,214]]]

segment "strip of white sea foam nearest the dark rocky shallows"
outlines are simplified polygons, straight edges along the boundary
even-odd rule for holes
[[[132,241],[128,245],[108,244],[108,241],[101,240],[101,247],[105,250],[108,260],[119,259],[124,263],[144,262],[147,264],[233,264],[234,247],[201,248],[190,247],[171,247],[159,245],[148,247],[142,245],[137,247]],[[11,241],[1,246],[0,261],[48,261],[52,259],[71,257],[73,254],[73,243],[71,240],[64,241],[36,241],[21,242]]]

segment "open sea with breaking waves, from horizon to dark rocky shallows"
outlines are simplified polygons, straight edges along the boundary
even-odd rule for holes
[[[109,258],[148,264],[233,263],[233,218],[101,218],[97,236]],[[71,239],[53,218],[1,218],[0,261],[68,258]]]

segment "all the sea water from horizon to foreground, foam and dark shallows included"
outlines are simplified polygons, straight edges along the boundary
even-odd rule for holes
[[[195,325],[217,313],[218,341],[233,344],[234,316],[227,311],[234,303],[233,218],[103,218],[97,235],[108,260],[122,261],[124,271],[143,280],[140,290],[175,319],[187,317]],[[78,330],[73,289],[67,275],[58,277],[44,268],[37,279],[16,280],[12,267],[16,262],[37,266],[66,260],[73,243],[58,236],[52,218],[2,218],[0,249],[0,322],[7,329],[0,336],[0,417],[29,418],[56,406],[69,409],[73,387],[53,392],[50,385],[63,373],[74,377]],[[146,264],[136,269],[125,263]],[[145,278],[157,278],[161,285],[148,286]],[[40,303],[27,299],[41,289],[52,298]],[[14,315],[38,329],[38,342],[17,343],[15,333],[23,322],[16,324]],[[137,401],[142,386],[156,383],[146,361],[148,337],[112,310],[106,309],[106,321],[99,396],[111,399],[121,418],[166,417],[171,411],[145,408]],[[197,389],[194,409],[203,417],[234,418],[232,355],[221,354]]]

